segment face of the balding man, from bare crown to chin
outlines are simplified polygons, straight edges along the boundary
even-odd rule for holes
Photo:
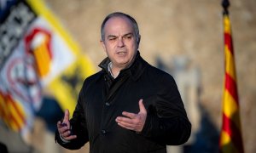
[[[131,65],[137,53],[137,42],[131,21],[125,17],[113,17],[104,27],[102,47],[112,61],[113,68],[124,69]]]

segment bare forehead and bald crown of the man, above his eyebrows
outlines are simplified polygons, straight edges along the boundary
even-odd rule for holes
[[[131,20],[125,16],[114,16],[110,18],[104,27],[104,31],[133,31]]]

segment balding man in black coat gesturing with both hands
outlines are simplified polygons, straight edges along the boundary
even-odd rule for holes
[[[140,56],[136,20],[109,14],[101,31],[108,58],[85,79],[73,118],[65,111],[55,140],[71,150],[89,141],[90,153],[161,153],[166,144],[185,143],[191,124],[177,85]]]

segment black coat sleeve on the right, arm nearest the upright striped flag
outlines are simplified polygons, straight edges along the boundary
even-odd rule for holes
[[[141,134],[159,144],[184,144],[189,139],[191,124],[176,82],[172,76],[165,75],[158,85],[152,105],[148,106],[148,115]]]

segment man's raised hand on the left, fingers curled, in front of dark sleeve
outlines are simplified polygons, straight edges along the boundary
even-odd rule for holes
[[[58,127],[59,133],[61,134],[62,139],[65,139],[68,141],[68,140],[77,138],[76,135],[71,135],[68,110],[65,111],[63,121],[57,122],[57,127]]]

